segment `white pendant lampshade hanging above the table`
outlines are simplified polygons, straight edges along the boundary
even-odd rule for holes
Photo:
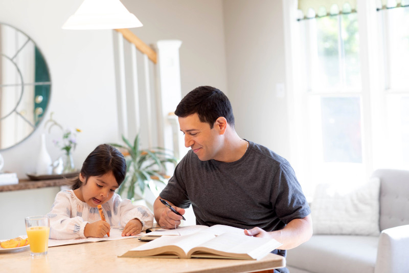
[[[142,27],[120,0],[84,0],[63,29],[123,29]]]

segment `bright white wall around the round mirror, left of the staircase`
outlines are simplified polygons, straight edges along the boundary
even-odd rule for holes
[[[117,108],[113,73],[112,31],[62,30],[65,20],[75,12],[81,0],[7,1],[0,0],[0,22],[29,35],[48,63],[52,91],[47,118],[64,127],[83,130],[78,135],[74,154],[81,167],[86,155],[101,142],[117,140]],[[4,170],[16,172],[20,179],[35,171],[40,134],[44,122],[27,140],[2,151]],[[60,151],[48,139],[53,159]]]

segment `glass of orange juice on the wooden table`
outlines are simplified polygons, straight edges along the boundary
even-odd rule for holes
[[[26,232],[31,256],[47,255],[50,219],[47,216],[26,217]]]

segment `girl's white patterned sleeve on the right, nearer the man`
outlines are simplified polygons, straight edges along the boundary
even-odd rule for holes
[[[138,219],[142,223],[142,231],[153,224],[153,214],[149,211],[149,208],[145,206],[135,206],[132,204],[131,200],[124,199],[118,195],[113,200],[113,213],[115,211],[120,215],[121,226],[125,226],[130,220]]]

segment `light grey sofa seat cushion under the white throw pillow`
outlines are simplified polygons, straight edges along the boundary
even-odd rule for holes
[[[287,252],[287,266],[314,273],[373,273],[378,237],[314,235]]]

